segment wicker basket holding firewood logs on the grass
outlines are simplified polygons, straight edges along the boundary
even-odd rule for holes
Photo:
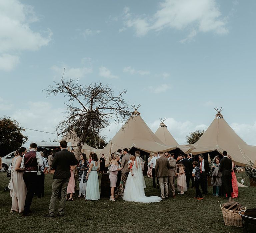
[[[222,215],[223,215],[224,223],[226,226],[235,226],[235,227],[243,226],[243,220],[241,215],[239,214],[239,211],[225,209],[221,206],[221,204],[220,204],[220,208],[222,210]]]

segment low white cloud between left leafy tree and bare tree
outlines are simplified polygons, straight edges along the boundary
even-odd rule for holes
[[[11,118],[17,120],[22,127],[52,133],[56,133],[55,128],[58,123],[64,119],[66,112],[65,109],[56,108],[56,106],[47,102],[28,102],[24,106],[27,106],[27,108],[17,109],[11,115]],[[54,134],[29,129],[26,129],[24,134],[28,136],[29,139],[26,146],[28,146],[31,141],[49,141],[48,138],[51,138],[53,141],[57,137],[57,135]],[[61,137],[59,136],[58,139],[61,139]]]

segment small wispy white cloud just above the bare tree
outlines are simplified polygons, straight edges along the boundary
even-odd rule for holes
[[[68,66],[52,66],[51,70],[55,71],[58,76],[62,76],[65,68],[64,77],[71,79],[80,79],[84,78],[86,75],[91,74],[93,72],[92,68],[80,67],[80,68],[70,68]]]

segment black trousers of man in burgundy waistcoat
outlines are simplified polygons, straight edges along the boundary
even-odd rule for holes
[[[23,211],[23,213],[26,214],[29,212],[32,199],[37,188],[37,182],[38,182],[37,172],[24,172],[23,180],[26,184],[27,191],[28,191],[26,195],[24,211]]]

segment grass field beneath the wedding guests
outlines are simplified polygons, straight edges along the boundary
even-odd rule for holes
[[[241,175],[241,173],[239,173]],[[204,200],[193,199],[195,189],[190,188],[176,199],[159,203],[134,203],[109,198],[85,201],[74,196],[75,201],[66,203],[64,217],[44,218],[50,197],[52,174],[45,175],[45,197],[33,198],[30,216],[22,217],[10,213],[11,198],[3,189],[8,185],[6,173],[0,173],[0,232],[243,232],[243,228],[225,226],[219,204],[223,197],[208,194]],[[246,177],[245,173],[242,173]],[[241,180],[239,178],[238,180]],[[245,185],[248,185],[246,177]],[[160,196],[152,188],[152,179],[145,177],[147,196]],[[209,193],[212,193],[212,187]],[[239,188],[237,201],[247,208],[256,207],[256,187]],[[249,232],[255,232],[255,225],[249,225]]]

